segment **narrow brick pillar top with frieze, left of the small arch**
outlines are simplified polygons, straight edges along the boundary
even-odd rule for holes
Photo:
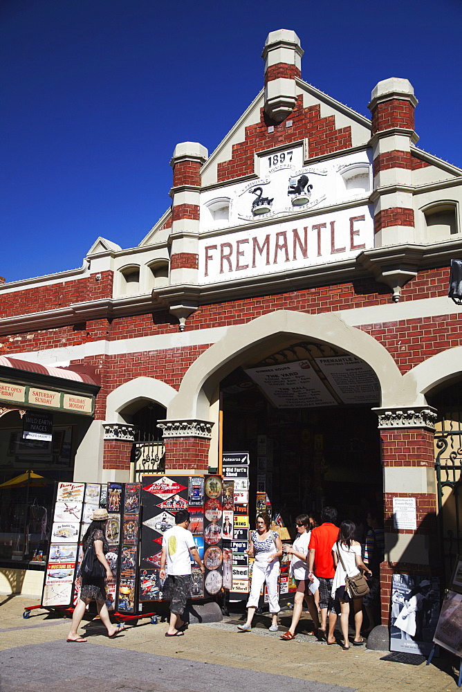
[[[102,468],[104,480],[128,482],[135,426],[105,423]]]

